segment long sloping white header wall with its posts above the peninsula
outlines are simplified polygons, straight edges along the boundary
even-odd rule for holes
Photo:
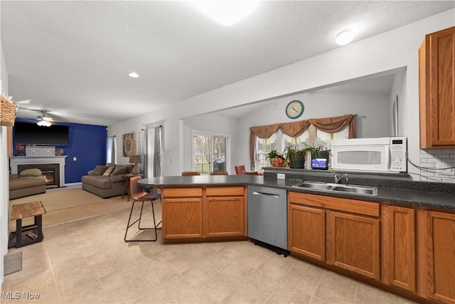
[[[140,129],[145,123],[164,120],[164,174],[183,171],[182,118],[278,98],[344,80],[406,67],[405,117],[402,134],[408,137],[410,157],[419,159],[419,82],[417,50],[427,33],[455,25],[455,9],[422,19],[380,35],[336,48],[319,56],[242,80],[223,88],[182,100],[166,108],[119,122],[108,128],[109,135]],[[215,102],[214,102],[215,100]],[[127,101],[127,100],[126,100]],[[240,132],[243,132],[240,130]],[[246,131],[245,131],[246,132]],[[242,143],[239,143],[242,145]]]

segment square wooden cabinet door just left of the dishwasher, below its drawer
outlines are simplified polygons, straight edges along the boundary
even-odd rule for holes
[[[207,197],[205,202],[205,236],[245,235],[243,196]]]

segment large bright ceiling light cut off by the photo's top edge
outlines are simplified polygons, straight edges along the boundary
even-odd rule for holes
[[[259,1],[192,1],[193,5],[206,16],[223,24],[232,26],[250,15]]]

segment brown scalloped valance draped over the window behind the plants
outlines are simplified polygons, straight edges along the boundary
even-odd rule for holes
[[[357,115],[346,114],[337,117],[325,117],[250,127],[250,169],[253,171],[255,169],[256,137],[269,138],[278,130],[282,130],[284,134],[291,137],[296,137],[305,132],[310,125],[314,125],[314,127],[323,132],[334,133],[343,130],[349,125],[349,138],[355,138],[355,116]]]

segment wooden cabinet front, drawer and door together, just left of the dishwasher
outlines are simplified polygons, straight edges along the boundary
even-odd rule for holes
[[[245,236],[244,187],[207,187],[204,236]]]

